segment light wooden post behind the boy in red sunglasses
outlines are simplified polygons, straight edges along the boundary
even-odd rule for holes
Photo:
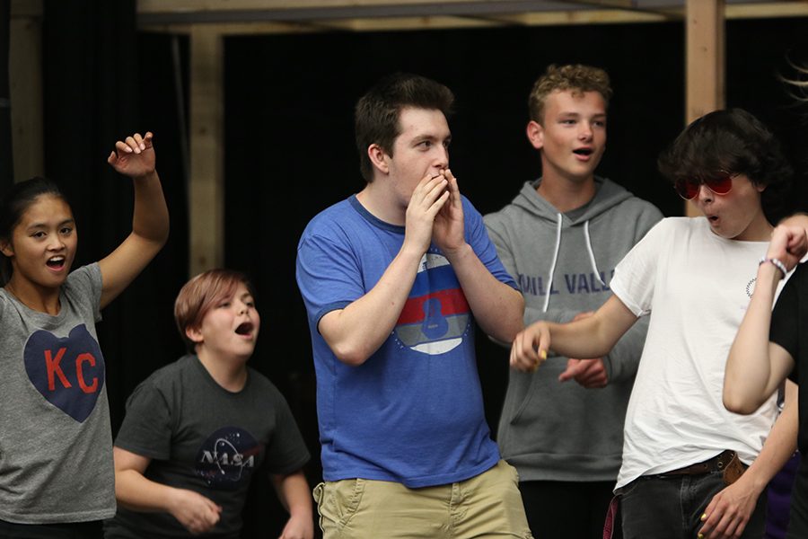
[[[725,0],[687,0],[685,121],[725,107]],[[687,216],[701,212],[685,203]]]

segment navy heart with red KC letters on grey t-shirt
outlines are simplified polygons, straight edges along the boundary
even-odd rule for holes
[[[104,358],[84,324],[67,337],[34,331],[22,352],[25,372],[45,399],[83,423],[95,409],[104,385]]]

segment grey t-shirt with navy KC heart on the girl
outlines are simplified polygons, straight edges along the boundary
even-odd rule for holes
[[[0,519],[83,522],[115,514],[110,407],[95,323],[98,264],[73,271],[56,316],[0,288]]]

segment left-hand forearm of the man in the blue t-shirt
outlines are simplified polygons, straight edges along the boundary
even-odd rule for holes
[[[322,317],[320,332],[337,358],[361,365],[387,340],[412,290],[422,255],[402,246],[367,294]]]

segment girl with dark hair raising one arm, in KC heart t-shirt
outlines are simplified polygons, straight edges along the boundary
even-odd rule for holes
[[[99,537],[115,514],[104,358],[95,323],[168,237],[152,134],[107,161],[132,178],[132,232],[71,272],[75,219],[56,184],[13,187],[0,206],[0,536]]]

